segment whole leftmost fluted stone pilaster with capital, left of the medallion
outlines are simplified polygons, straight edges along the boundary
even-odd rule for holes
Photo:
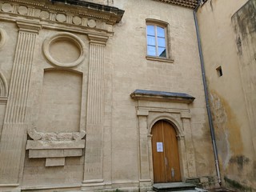
[[[0,183],[18,183],[24,138],[28,128],[27,98],[34,46],[41,26],[34,22],[17,22],[18,42],[10,80],[10,92],[0,143]]]

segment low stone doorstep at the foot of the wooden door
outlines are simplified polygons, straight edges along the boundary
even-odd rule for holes
[[[153,189],[158,192],[167,191],[197,191],[195,185],[185,182],[168,182],[168,183],[157,183],[153,185]]]

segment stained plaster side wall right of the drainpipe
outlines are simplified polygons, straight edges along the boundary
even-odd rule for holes
[[[254,62],[255,51],[250,47],[255,47],[255,43],[250,41],[242,45],[244,52],[243,58],[240,59],[237,49],[239,34],[235,34],[234,31],[234,28],[238,29],[240,24],[232,22],[233,19],[231,19],[246,2],[246,0],[209,0],[199,7],[197,16],[218,157],[222,178],[225,178],[222,182],[230,186],[238,182],[242,186],[255,188],[255,145],[253,143],[255,134],[254,124],[250,123],[252,117],[255,118],[255,102],[254,99],[251,100],[251,94],[255,94],[253,86],[255,70],[254,68],[243,70],[245,63],[250,65],[246,62],[248,59]],[[253,6],[250,8],[254,9]],[[250,14],[250,11],[246,13]],[[246,18],[244,15],[240,13],[238,17]],[[253,14],[248,16],[248,18],[251,17],[254,17]],[[246,27],[250,22],[245,21],[243,24]],[[248,34],[248,37],[253,36]],[[216,70],[219,66],[222,67],[222,77],[219,77]],[[249,82],[248,78],[250,78]],[[248,87],[248,83],[252,86]],[[250,94],[246,93],[245,89]],[[246,103],[248,97],[250,103]]]

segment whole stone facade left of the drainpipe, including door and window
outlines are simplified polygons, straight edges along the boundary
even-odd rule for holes
[[[218,186],[197,5],[1,0],[0,191]]]

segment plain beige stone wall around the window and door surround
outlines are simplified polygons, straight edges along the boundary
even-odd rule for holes
[[[114,69],[112,177],[119,180],[123,175],[122,178],[131,181],[138,178],[138,167],[130,166],[138,164],[136,158],[131,158],[138,153],[136,103],[129,98],[136,89],[185,92],[196,98],[190,105],[190,112],[197,174],[214,176],[193,10],[153,1],[116,1],[114,6],[126,13],[114,27],[114,37],[110,39]],[[170,24],[174,63],[146,60],[146,18]]]

